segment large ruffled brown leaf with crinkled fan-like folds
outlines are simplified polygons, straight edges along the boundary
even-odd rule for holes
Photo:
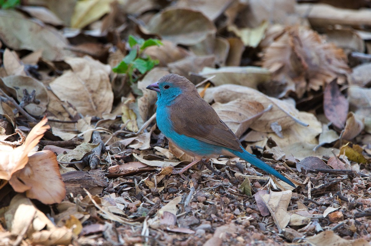
[[[304,26],[287,27],[265,50],[263,67],[295,82],[298,97],[350,72],[342,49]]]

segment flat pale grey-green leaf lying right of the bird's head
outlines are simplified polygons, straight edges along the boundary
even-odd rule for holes
[[[267,69],[253,66],[220,67],[219,69],[204,67],[198,75],[204,78],[215,75],[215,77],[211,79],[211,82],[216,86],[222,84],[238,84],[253,89],[257,89],[260,83],[268,82],[271,77]]]

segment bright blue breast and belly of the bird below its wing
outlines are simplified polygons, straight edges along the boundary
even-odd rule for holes
[[[159,104],[159,103],[158,103]],[[169,107],[157,104],[157,126],[164,135],[175,143],[178,147],[188,153],[193,153],[197,156],[209,157],[214,154],[221,154],[222,147],[214,144],[202,142],[193,137],[180,135],[174,131],[170,120]]]

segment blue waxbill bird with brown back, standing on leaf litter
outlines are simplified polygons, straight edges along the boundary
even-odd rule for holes
[[[157,92],[157,126],[177,147],[195,157],[178,173],[182,173],[203,158],[219,155],[237,156],[272,174],[289,185],[295,185],[247,152],[231,129],[219,118],[213,107],[203,100],[196,86],[178,74],[168,74],[147,89]]]

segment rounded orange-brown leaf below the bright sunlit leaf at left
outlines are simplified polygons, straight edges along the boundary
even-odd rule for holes
[[[66,196],[56,156],[50,150],[30,152],[26,166],[9,180],[16,192],[44,204],[60,203]]]

